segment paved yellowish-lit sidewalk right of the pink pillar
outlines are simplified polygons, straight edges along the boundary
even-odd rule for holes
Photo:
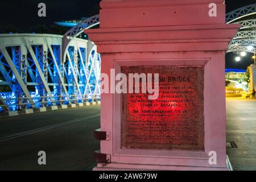
[[[226,140],[233,169],[256,170],[256,100],[226,98]]]

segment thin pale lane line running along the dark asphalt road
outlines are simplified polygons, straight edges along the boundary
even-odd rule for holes
[[[30,130],[30,131],[25,131],[23,133],[18,133],[18,134],[10,135],[10,136],[7,136],[7,137],[2,137],[2,138],[0,138],[0,142],[5,142],[7,140],[11,140],[11,139],[14,139],[14,138],[19,138],[19,137],[23,137],[23,136],[26,136],[26,135],[35,134],[35,133],[38,133],[38,132],[41,132],[41,131],[46,131],[46,130],[54,129],[54,128],[60,127],[60,126],[70,125],[72,123],[84,121],[84,120],[90,119],[90,118],[96,118],[96,117],[99,117],[99,116],[100,116],[100,114],[94,114],[94,115],[91,115],[89,117],[72,119],[70,121],[65,121],[65,122],[62,122],[62,123],[54,124],[54,125],[40,127],[39,129],[34,129],[34,130]]]

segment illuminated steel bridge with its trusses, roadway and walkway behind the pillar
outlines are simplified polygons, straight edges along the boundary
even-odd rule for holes
[[[255,14],[256,4],[226,14],[226,23],[242,25],[227,53],[255,53],[256,19],[251,18]],[[5,117],[0,118],[0,148],[5,148],[0,151],[0,169],[95,166],[93,151],[99,143],[93,140],[92,131],[100,127],[100,106],[96,104],[100,104],[101,56],[93,42],[77,37],[98,24],[100,17],[95,15],[63,36],[0,35],[0,110]],[[241,137],[237,144],[245,146],[246,136],[256,130],[256,115],[253,109],[246,108],[255,107],[255,102],[229,99],[227,104],[227,140]],[[236,112],[243,117],[237,117]],[[28,115],[6,117],[18,113]],[[239,128],[234,129],[234,125]],[[14,150],[17,147],[19,151]],[[40,150],[49,152],[48,166],[36,163],[36,152]],[[246,151],[228,149],[234,169],[255,169],[254,151],[254,146]]]

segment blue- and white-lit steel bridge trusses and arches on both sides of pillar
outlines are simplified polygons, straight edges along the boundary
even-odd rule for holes
[[[242,24],[228,52],[255,53],[255,14],[256,4],[226,14],[227,23]],[[101,56],[93,42],[77,38],[98,24],[95,15],[64,36],[0,34],[0,111],[100,102]]]

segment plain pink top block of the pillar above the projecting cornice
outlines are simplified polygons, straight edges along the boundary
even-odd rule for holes
[[[101,28],[225,23],[223,0],[103,0],[101,8]]]

